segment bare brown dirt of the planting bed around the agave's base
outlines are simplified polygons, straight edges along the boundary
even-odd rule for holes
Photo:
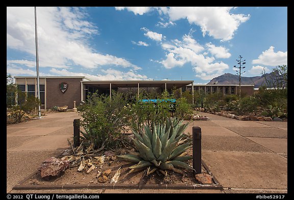
[[[190,152],[190,151],[189,151]],[[119,154],[118,154],[119,155]],[[31,178],[23,181],[21,183],[24,185],[51,185],[51,186],[64,186],[64,185],[90,185],[90,186],[111,186],[111,185],[128,185],[128,186],[138,186],[138,185],[182,185],[182,186],[201,186],[201,183],[195,179],[193,172],[183,169],[183,174],[173,172],[171,170],[166,170],[166,175],[159,173],[158,170],[146,176],[146,171],[141,170],[139,172],[129,173],[129,167],[135,163],[129,163],[122,160],[118,160],[116,156],[103,156],[104,162],[102,164],[95,165],[95,168],[91,172],[87,173],[90,165],[85,165],[84,169],[79,172],[79,166],[71,166],[66,169],[65,172],[61,173],[57,177],[50,177],[49,179],[41,178],[40,172],[36,173]],[[87,158],[90,159],[90,158]],[[94,163],[94,158],[90,159]],[[188,163],[192,165],[192,163]],[[211,174],[209,170],[202,164],[202,173]],[[93,168],[93,167],[92,167]],[[103,172],[111,169],[110,174],[107,176],[107,180],[104,183],[99,181],[102,177]],[[120,169],[120,176],[117,183],[111,182],[117,170]],[[99,177],[97,175],[101,174]],[[217,181],[212,179],[211,186],[217,185]],[[206,185],[207,186],[207,185]]]

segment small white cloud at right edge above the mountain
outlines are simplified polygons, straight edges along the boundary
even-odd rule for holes
[[[262,51],[262,54],[258,56],[257,60],[253,60],[252,64],[261,64],[268,66],[278,66],[288,64],[288,51],[274,52],[273,46],[269,47],[266,51]]]

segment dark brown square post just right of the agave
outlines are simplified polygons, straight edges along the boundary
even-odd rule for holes
[[[193,174],[201,174],[201,128],[192,127],[192,148],[193,148]]]

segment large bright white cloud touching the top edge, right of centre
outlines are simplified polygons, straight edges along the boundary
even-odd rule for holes
[[[190,24],[200,26],[203,36],[208,34],[223,41],[231,40],[239,25],[250,19],[249,14],[230,13],[234,7],[119,7],[116,10],[122,9],[140,15],[157,10],[168,16],[171,23],[187,19]],[[167,26],[168,23],[161,22],[158,25]]]

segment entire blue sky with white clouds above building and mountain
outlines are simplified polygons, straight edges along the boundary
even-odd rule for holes
[[[287,7],[37,7],[40,76],[194,80],[287,65]],[[34,7],[7,7],[7,73],[36,76]]]

